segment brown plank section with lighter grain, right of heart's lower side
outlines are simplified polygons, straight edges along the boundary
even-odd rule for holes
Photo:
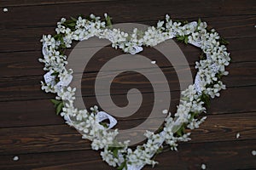
[[[216,139],[216,141],[218,141],[218,139],[220,139],[220,141],[256,139],[255,113],[256,112],[211,116],[207,116],[206,114],[206,122],[201,124],[200,128],[191,131],[192,140],[190,142],[212,142],[212,139]],[[239,139],[236,139],[236,133],[240,133]]]

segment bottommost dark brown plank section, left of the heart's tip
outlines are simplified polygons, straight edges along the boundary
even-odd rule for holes
[[[19,161],[12,161],[12,156],[0,156],[0,168],[8,169],[113,169],[101,161],[95,150],[77,150],[41,154],[19,155]],[[81,163],[85,165],[81,166]]]

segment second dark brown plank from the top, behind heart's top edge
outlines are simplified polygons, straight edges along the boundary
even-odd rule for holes
[[[148,20],[152,18],[148,18]],[[57,22],[56,19],[55,23]],[[194,18],[193,20],[197,20]],[[204,20],[204,19],[202,19]],[[225,38],[234,37],[256,37],[256,32],[254,28],[254,21],[256,20],[256,15],[241,15],[241,16],[224,16],[224,17],[211,17],[207,18],[206,21],[210,27],[214,27],[220,35]],[[120,22],[129,22],[129,20],[123,20]],[[140,22],[146,25],[155,25],[155,21],[144,21],[133,19],[132,22]],[[35,22],[33,22],[35,23]],[[40,50],[41,43],[40,39],[44,34],[54,34],[55,24],[51,27],[36,27],[36,28],[26,28],[26,34],[24,29],[5,29],[0,32],[2,41],[0,42],[1,52],[12,52],[12,51],[31,51]],[[234,41],[230,40],[230,44]],[[253,39],[255,44],[255,40]],[[93,44],[92,44],[93,45]],[[12,48],[10,48],[12,47]]]

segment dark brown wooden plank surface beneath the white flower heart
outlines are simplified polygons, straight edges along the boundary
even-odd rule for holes
[[[43,34],[53,34],[61,17],[108,13],[113,23],[137,22],[153,25],[165,14],[174,19],[207,21],[228,45],[232,62],[230,75],[224,77],[228,89],[211,101],[208,119],[192,134],[192,140],[180,144],[177,152],[166,151],[156,160],[155,169],[256,169],[256,1],[255,0],[170,0],[170,1],[117,1],[117,0],[1,0],[0,2],[0,169],[113,169],[101,160],[99,152],[90,150],[88,141],[73,128],[67,127],[49,102],[51,94],[40,90],[43,65],[39,40]],[[3,13],[3,8],[8,8]],[[178,43],[195,74],[198,59],[196,48]],[[96,63],[107,62],[111,54],[120,53],[105,48],[107,53],[96,57]],[[156,59],[151,49],[148,58]],[[70,52],[70,51],[69,51]],[[151,53],[152,52],[152,53]],[[67,52],[68,53],[68,52]],[[150,55],[151,54],[151,55]],[[179,90],[172,65],[163,58],[157,64],[171,75],[172,105],[175,111]],[[83,80],[83,94],[87,105],[96,104],[91,94],[94,65],[88,68]],[[173,77],[172,77],[173,76]],[[122,74],[115,79],[113,94],[118,105],[125,105],[124,84],[137,82],[145,97],[143,109],[120,120],[123,126],[142,122],[150,110],[152,88],[149,82],[134,73]],[[125,86],[127,88],[128,86]],[[236,133],[241,138],[236,139]],[[19,161],[13,161],[19,156]],[[144,167],[151,169],[151,167]]]

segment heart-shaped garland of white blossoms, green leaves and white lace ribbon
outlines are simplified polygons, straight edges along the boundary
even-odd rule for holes
[[[146,164],[154,166],[157,161],[152,157],[163,149],[164,143],[170,145],[171,150],[177,150],[178,142],[190,140],[190,133],[186,129],[198,128],[205,121],[206,117],[199,118],[199,115],[206,112],[209,99],[219,96],[219,91],[225,88],[220,78],[228,74],[225,66],[230,64],[230,54],[224,39],[213,29],[209,31],[207,23],[201,20],[179,22],[166,15],[166,20],[159,21],[157,26],[149,26],[143,34],[137,29],[128,34],[109,28],[110,17],[107,14],[104,16],[105,20],[94,14],[86,19],[62,18],[57,23],[55,36],[43,36],[41,42],[44,58],[39,61],[44,63],[44,71],[48,72],[44,75],[44,82],[41,82],[42,90],[56,94],[52,102],[57,114],[61,113],[68,125],[78,129],[83,139],[89,139],[93,150],[102,150],[102,160],[108,162],[108,165],[118,169],[141,169]],[[118,129],[109,131],[109,125],[102,125],[101,116],[104,114],[98,111],[97,106],[86,111],[78,110],[73,105],[76,88],[68,86],[73,71],[65,68],[67,56],[64,51],[71,47],[73,41],[83,41],[90,37],[108,39],[113,48],[120,48],[130,54],[142,51],[143,46],[152,47],[172,38],[201,48],[201,60],[195,62],[195,68],[198,69],[195,83],[181,93],[177,113],[172,116],[169,111],[163,111],[167,116],[160,133],[147,131],[147,142],[138,145],[135,150],[128,147],[129,141],[121,143],[115,140]],[[111,147],[113,143],[120,147]]]

